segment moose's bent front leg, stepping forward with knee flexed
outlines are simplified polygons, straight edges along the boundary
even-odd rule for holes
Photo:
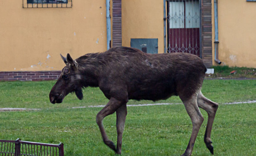
[[[109,140],[109,138],[107,137],[107,134],[106,134],[103,124],[102,124],[102,120],[104,119],[104,117],[107,117],[108,115],[113,114],[120,106],[122,106],[122,104],[126,105],[126,103],[122,103],[121,101],[119,101],[115,98],[110,98],[107,105],[97,114],[97,117],[96,117],[96,122],[100,128],[100,133],[102,135],[103,142],[108,147],[113,149],[115,152],[116,152],[116,147],[114,145],[114,142]]]

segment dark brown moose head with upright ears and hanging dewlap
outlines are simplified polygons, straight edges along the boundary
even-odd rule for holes
[[[81,75],[78,70],[78,63],[69,54],[66,57],[61,55],[61,57],[66,66],[62,69],[57,82],[49,94],[50,102],[53,104],[62,103],[64,97],[71,92],[75,92],[78,99],[83,99],[83,85],[80,85]]]

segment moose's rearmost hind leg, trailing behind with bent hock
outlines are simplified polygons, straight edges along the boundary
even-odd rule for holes
[[[197,104],[200,108],[206,110],[208,113],[208,122],[206,126],[206,131],[204,134],[204,142],[206,147],[210,150],[211,154],[213,154],[213,145],[211,145],[211,129],[213,126],[213,120],[218,109],[218,103],[215,103],[209,99],[207,99],[202,92],[200,91],[197,96]]]

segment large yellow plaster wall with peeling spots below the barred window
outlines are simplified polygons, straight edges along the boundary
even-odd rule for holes
[[[73,0],[72,8],[27,9],[22,0],[0,1],[0,71],[60,70],[60,53],[75,59],[105,50],[106,0]]]

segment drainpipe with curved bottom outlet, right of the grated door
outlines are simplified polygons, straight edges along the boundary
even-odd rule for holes
[[[214,61],[218,64],[221,64],[219,60],[219,51],[218,51],[218,0],[214,0],[214,30],[215,30],[215,39],[214,39]]]

